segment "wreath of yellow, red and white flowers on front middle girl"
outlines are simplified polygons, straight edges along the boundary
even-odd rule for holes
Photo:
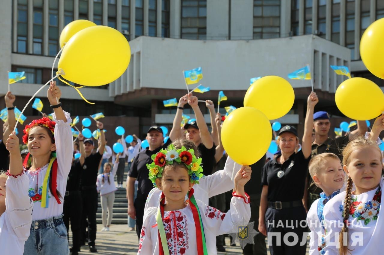
[[[156,187],[156,179],[162,177],[164,167],[166,165],[172,165],[174,161],[181,164],[184,163],[188,168],[188,175],[190,176],[190,182],[199,184],[199,179],[203,177],[203,168],[200,166],[201,158],[196,158],[195,151],[193,149],[175,149],[173,144],[170,144],[167,149],[160,150],[157,154],[151,156],[153,162],[147,164],[149,170],[148,176]]]

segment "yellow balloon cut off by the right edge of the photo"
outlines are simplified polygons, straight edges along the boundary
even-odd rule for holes
[[[384,79],[384,18],[376,20],[364,31],[360,40],[360,56],[369,72]]]

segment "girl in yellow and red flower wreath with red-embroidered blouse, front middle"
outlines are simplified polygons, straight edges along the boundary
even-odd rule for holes
[[[144,214],[137,254],[217,254],[217,235],[237,232],[238,226],[248,224],[251,210],[244,185],[250,180],[249,166],[236,173],[230,211],[225,214],[193,195],[192,187],[203,176],[201,158],[195,157],[193,149],[175,149],[171,144],[151,158],[149,179],[162,195],[159,206]]]

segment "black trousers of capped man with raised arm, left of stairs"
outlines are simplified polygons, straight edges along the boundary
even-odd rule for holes
[[[98,193],[96,191],[96,185],[94,188],[82,190],[81,197],[83,199],[83,216],[81,219],[81,233],[83,234],[82,240],[86,239],[86,228],[88,226],[88,245],[94,246],[96,240],[96,212],[98,207]]]

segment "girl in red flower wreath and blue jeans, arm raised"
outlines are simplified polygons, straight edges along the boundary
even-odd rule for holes
[[[25,255],[69,254],[62,214],[73,141],[70,114],[63,111],[61,103],[57,103],[60,96],[56,82],[51,82],[47,97],[55,112],[54,121],[46,117],[35,119],[23,130],[23,142],[30,152],[23,165],[29,177],[28,195],[33,200],[32,225],[25,242]]]

